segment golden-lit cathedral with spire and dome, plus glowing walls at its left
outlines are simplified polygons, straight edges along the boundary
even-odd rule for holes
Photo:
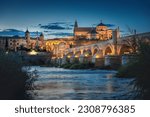
[[[99,41],[112,39],[113,30],[108,29],[102,21],[96,27],[79,27],[75,21],[71,38],[57,38],[46,40],[46,50],[53,53],[53,57],[63,57],[66,49],[95,44]]]

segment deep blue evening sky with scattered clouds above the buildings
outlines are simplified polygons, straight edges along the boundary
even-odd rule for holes
[[[118,26],[122,35],[128,27],[137,33],[150,32],[150,0],[0,0],[0,36],[45,38],[73,35],[75,20],[81,27],[102,22],[110,29]]]

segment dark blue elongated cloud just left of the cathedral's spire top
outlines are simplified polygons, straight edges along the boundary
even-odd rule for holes
[[[46,25],[39,24],[38,26],[47,30],[71,30],[73,28],[71,22],[53,22]]]

